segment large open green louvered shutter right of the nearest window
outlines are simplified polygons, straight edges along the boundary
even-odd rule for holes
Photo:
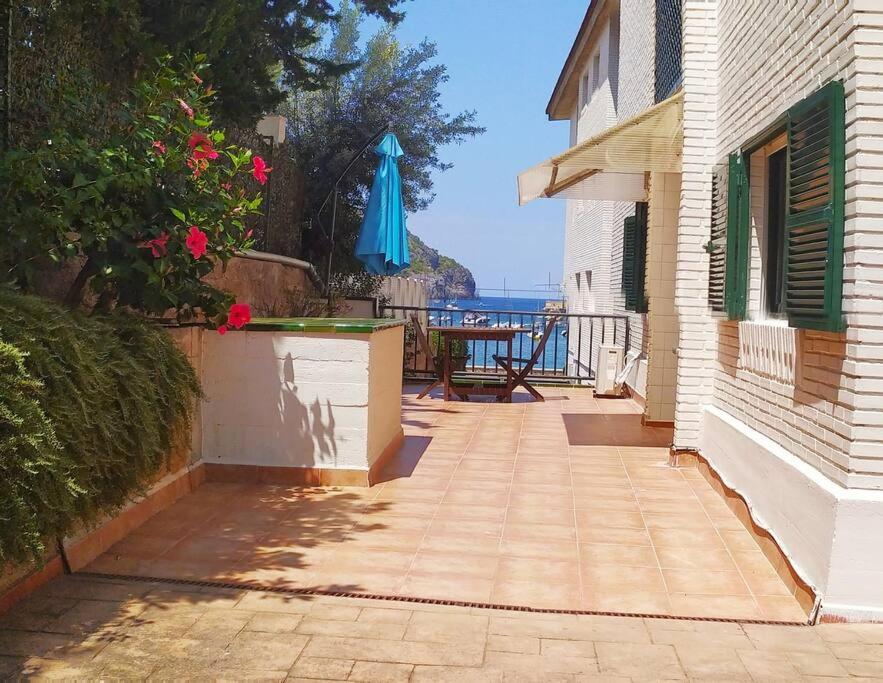
[[[788,111],[785,310],[794,327],[843,329],[845,109],[834,81]]]

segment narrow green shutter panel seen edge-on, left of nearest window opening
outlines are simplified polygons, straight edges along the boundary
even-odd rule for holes
[[[748,313],[748,173],[741,154],[731,154],[727,167],[727,248],[724,308],[730,320]]]

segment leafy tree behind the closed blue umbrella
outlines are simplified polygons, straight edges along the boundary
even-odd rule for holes
[[[313,227],[304,235],[304,249],[314,263],[324,263],[329,249],[330,212],[317,220],[319,208],[347,161],[373,133],[392,124],[405,150],[399,171],[405,208],[412,213],[432,202],[432,174],[451,168],[439,157],[439,148],[484,132],[474,111],[445,111],[440,86],[448,73],[433,63],[437,50],[432,42],[402,45],[395,26],[387,24],[362,47],[362,16],[358,7],[344,2],[328,40],[311,53],[317,61],[358,66],[323,90],[292,91],[280,108],[289,119],[295,161],[308,178]],[[343,272],[361,269],[352,254],[375,168],[376,157],[366,154],[340,186],[334,262]]]

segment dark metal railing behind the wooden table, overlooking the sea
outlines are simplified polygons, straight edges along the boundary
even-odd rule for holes
[[[411,315],[416,313],[424,333],[429,326],[438,327],[509,327],[524,328],[512,343],[515,358],[530,358],[539,344],[550,316],[559,320],[537,359],[529,377],[536,381],[561,381],[573,384],[592,384],[602,344],[629,348],[629,319],[624,315],[590,315],[583,313],[554,313],[550,311],[505,311],[483,308],[441,308],[418,306],[381,307],[384,317],[404,318],[405,328],[404,374],[406,378],[427,378],[433,374],[432,364],[423,358],[417,336],[412,329]],[[433,354],[439,355],[440,339],[429,335]],[[466,357],[463,357],[463,351]],[[458,349],[454,349],[457,354]],[[506,343],[491,340],[471,340],[465,349],[459,349],[459,369],[481,374],[503,375],[494,361],[494,354],[505,354]],[[457,359],[455,359],[456,361]]]

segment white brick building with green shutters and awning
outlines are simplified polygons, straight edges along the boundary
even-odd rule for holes
[[[645,418],[823,619],[883,619],[881,91],[879,0],[594,0],[571,147],[519,176],[568,199],[577,310],[645,298]]]

